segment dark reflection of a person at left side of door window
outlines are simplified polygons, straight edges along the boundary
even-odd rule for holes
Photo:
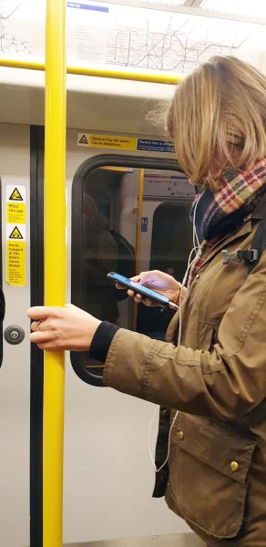
[[[83,286],[84,308],[110,323],[118,320],[118,290],[107,280],[116,271],[118,246],[107,230],[107,221],[96,202],[87,194],[83,199]]]

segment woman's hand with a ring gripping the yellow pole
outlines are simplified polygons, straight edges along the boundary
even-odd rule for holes
[[[101,321],[75,305],[32,307],[27,316],[35,319],[30,341],[48,351],[87,351]]]

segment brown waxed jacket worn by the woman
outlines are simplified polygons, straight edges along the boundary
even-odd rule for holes
[[[265,207],[265,201],[264,207]],[[210,547],[266,546],[266,253],[223,265],[221,250],[250,249],[257,210],[212,249],[167,343],[124,329],[109,348],[104,382],[161,406],[154,495]],[[171,410],[170,410],[171,409]]]

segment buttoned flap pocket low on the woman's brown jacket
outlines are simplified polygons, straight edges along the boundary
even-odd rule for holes
[[[179,414],[171,435],[169,490],[184,518],[217,538],[240,531],[256,438]]]

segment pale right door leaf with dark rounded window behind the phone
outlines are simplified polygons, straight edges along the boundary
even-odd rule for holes
[[[77,133],[72,130],[67,150],[71,301],[102,319],[137,329],[137,307],[126,294],[107,283],[106,274],[121,269],[124,274],[135,274],[136,262],[141,269],[145,261],[147,267],[154,263],[155,249],[160,245],[158,225],[162,232],[166,230],[160,216],[165,214],[163,207],[173,208],[180,224],[179,213],[184,208],[188,211],[194,190],[183,178],[184,195],[177,192],[171,196],[168,190],[162,195],[155,195],[154,191],[148,195],[145,191],[150,170],[159,175],[166,173],[167,188],[174,186],[170,180],[176,174],[173,160],[147,158],[143,153],[103,155],[102,150],[100,156],[88,158],[86,149],[77,151]],[[179,262],[189,257],[189,228],[188,222],[186,249]],[[179,225],[174,230],[179,232]],[[179,253],[179,246],[177,250]],[[165,261],[168,268],[163,253],[160,261]],[[163,545],[165,534],[189,532],[163,500],[151,498],[154,471],[148,457],[148,427],[153,405],[101,387],[102,364],[93,361],[89,354],[73,353],[71,362],[73,368],[67,368],[66,378],[67,541],[85,542],[89,538],[107,542],[138,537],[142,545],[145,537],[158,535]],[[156,428],[153,444],[155,439]]]

